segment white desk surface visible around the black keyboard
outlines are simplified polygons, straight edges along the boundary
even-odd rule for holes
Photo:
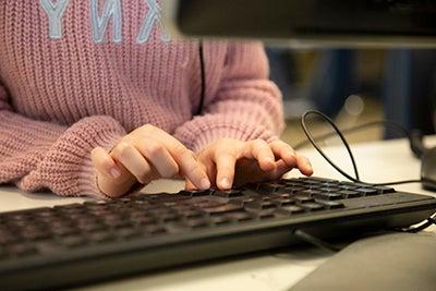
[[[436,144],[436,137],[429,142]],[[388,182],[419,178],[420,162],[412,157],[405,141],[355,145],[352,150],[360,168],[361,179],[364,181]],[[311,159],[315,175],[343,180],[316,151],[307,149],[301,153]],[[352,172],[351,163],[342,147],[331,147],[328,154],[335,161],[343,165],[348,172]],[[298,173],[291,172],[290,175]],[[146,192],[177,192],[181,185],[178,182],[161,181],[149,185]],[[436,195],[423,191],[420,184],[399,185],[396,189]],[[52,194],[26,194],[13,187],[0,187],[0,211],[85,201],[85,198],[61,198]],[[436,228],[431,228],[429,231],[436,232]],[[198,264],[180,270],[101,283],[82,290],[288,290],[328,257],[329,254],[317,248],[290,247],[287,253]]]

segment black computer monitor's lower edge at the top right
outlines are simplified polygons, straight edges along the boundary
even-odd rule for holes
[[[436,47],[434,0],[162,1],[185,36],[247,37],[294,46]]]

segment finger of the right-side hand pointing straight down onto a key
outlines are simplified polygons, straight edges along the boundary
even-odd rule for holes
[[[216,183],[220,190],[230,190],[234,180],[235,155],[226,151],[216,151],[215,163],[217,168]]]

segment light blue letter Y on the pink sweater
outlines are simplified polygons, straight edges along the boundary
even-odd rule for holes
[[[39,0],[40,5],[48,15],[49,34],[51,38],[62,38],[62,16],[70,0],[58,0],[56,4],[51,0]]]

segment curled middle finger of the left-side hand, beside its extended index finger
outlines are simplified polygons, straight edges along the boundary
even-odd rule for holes
[[[156,168],[162,178],[173,178],[179,172],[179,166],[164,145],[153,141],[140,140],[136,149]]]

